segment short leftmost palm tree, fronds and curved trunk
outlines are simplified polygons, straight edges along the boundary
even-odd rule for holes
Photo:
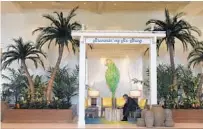
[[[9,45],[7,51],[2,53],[2,69],[6,69],[14,61],[18,61],[18,63],[19,61],[21,62],[21,67],[28,78],[31,101],[33,101],[35,93],[34,83],[28,71],[26,60],[33,61],[36,68],[38,67],[38,63],[40,63],[44,68],[44,63],[40,58],[40,55],[44,56],[45,58],[46,56],[41,50],[36,49],[32,42],[24,42],[21,37],[19,37],[18,39],[13,39],[13,41],[16,43],[16,45]]]

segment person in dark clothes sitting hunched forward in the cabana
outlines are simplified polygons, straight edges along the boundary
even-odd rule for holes
[[[123,107],[123,120],[122,121],[127,121],[129,112],[136,111],[137,109],[139,109],[139,106],[138,106],[137,102],[133,98],[129,97],[127,94],[124,94],[123,98],[125,99],[125,105]]]

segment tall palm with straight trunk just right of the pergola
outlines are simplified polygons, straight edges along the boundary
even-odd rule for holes
[[[184,16],[184,13],[178,13],[175,16],[171,17],[169,11],[165,9],[165,20],[158,19],[150,19],[147,21],[146,25],[154,24],[153,31],[165,31],[166,36],[157,42],[157,51],[159,51],[160,46],[165,41],[167,45],[167,50],[169,51],[170,63],[172,67],[172,72],[175,72],[175,62],[174,62],[174,49],[175,49],[175,39],[180,40],[179,43],[183,45],[183,49],[187,50],[188,45],[192,47],[195,46],[197,39],[192,32],[197,33],[199,36],[201,35],[201,31],[195,27],[190,25],[187,21],[181,19]],[[151,30],[151,27],[146,30]],[[173,74],[173,84],[176,84],[176,76]]]

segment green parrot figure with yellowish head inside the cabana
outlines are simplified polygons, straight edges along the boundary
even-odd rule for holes
[[[114,98],[116,93],[116,88],[120,80],[120,73],[115,63],[112,60],[106,59],[106,66],[107,66],[107,70],[105,73],[106,83],[112,93],[112,98]]]

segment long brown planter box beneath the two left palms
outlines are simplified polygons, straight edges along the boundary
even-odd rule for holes
[[[5,123],[70,123],[71,109],[8,109],[4,113]]]

